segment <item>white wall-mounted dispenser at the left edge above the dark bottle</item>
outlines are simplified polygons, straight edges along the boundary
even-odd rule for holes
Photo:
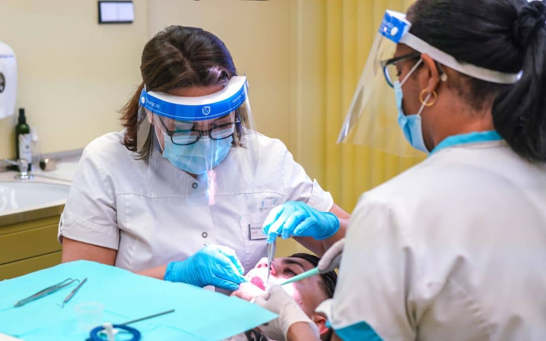
[[[15,52],[0,41],[0,118],[13,115],[17,94]]]

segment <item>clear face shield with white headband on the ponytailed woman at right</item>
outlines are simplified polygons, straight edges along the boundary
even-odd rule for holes
[[[384,152],[415,157],[423,155],[413,148],[398,124],[398,108],[395,98],[398,78],[396,63],[414,59],[417,66],[422,63],[421,53],[460,73],[495,83],[514,83],[520,74],[505,74],[476,65],[460,63],[454,57],[436,49],[424,40],[411,34],[411,23],[406,15],[396,11],[385,11],[379,32],[373,41],[370,54],[360,76],[345,122],[341,127],[338,143],[351,142],[381,149]],[[417,52],[394,58],[397,44],[406,44]],[[445,81],[445,77],[442,78]],[[401,106],[401,103],[399,103]],[[417,115],[407,112],[406,115]],[[420,113],[419,113],[420,114]]]

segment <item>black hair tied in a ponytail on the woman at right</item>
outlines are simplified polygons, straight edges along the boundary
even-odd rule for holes
[[[497,132],[521,157],[546,161],[546,4],[527,0],[417,0],[410,32],[459,62],[518,73],[513,85],[461,74],[475,109],[492,103]]]

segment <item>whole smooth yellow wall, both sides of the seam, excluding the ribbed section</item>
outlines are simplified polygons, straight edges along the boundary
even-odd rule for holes
[[[0,2],[0,41],[17,57],[16,108],[42,152],[82,148],[121,128],[144,44],[167,25],[218,35],[250,82],[257,128],[290,147],[290,1],[136,0],[130,25],[98,25],[96,0]],[[258,114],[259,113],[259,114]],[[0,120],[0,158],[15,157],[16,115]]]

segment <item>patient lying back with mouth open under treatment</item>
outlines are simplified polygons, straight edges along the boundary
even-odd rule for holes
[[[296,253],[288,258],[275,258],[271,262],[270,284],[281,284],[285,280],[294,277],[302,272],[311,270],[318,264],[317,256]],[[262,258],[258,264],[246,274],[250,283],[242,283],[239,290],[233,292],[240,298],[247,301],[253,297],[263,294],[268,276],[268,260]],[[299,282],[283,285],[283,289],[288,292],[300,305],[301,309],[309,318],[317,324],[322,340],[329,340],[331,330],[326,326],[326,318],[323,314],[314,312],[314,309],[324,300],[334,295],[337,274],[328,272],[317,276],[312,276]],[[230,341],[248,340],[248,341],[266,341],[268,340],[258,328],[236,335],[229,339]]]

